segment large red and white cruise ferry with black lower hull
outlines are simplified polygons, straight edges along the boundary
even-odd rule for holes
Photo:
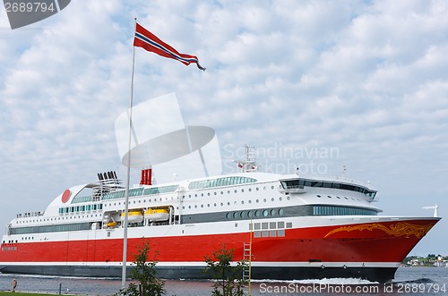
[[[204,278],[204,258],[225,244],[234,260],[250,259],[252,279],[384,283],[440,220],[379,215],[368,182],[261,173],[250,158],[237,165],[240,173],[157,185],[142,170],[128,190],[127,265],[148,241],[160,277]],[[126,199],[116,173],[61,192],[7,224],[0,271],[119,277]]]

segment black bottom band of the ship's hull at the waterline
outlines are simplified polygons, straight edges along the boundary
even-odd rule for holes
[[[129,272],[132,267],[128,267]],[[157,274],[164,279],[208,279],[201,266],[159,266]],[[253,266],[256,280],[306,280],[323,278],[360,278],[370,282],[392,281],[397,267],[291,267]],[[121,266],[0,266],[4,274],[121,277]]]

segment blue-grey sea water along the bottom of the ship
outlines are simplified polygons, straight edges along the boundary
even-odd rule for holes
[[[112,295],[120,290],[120,279],[80,278],[42,275],[0,274],[0,290],[10,290],[13,278],[17,291],[63,294]],[[167,295],[211,295],[211,281],[167,280]],[[246,288],[247,291],[247,288]],[[247,294],[247,293],[246,293]],[[358,279],[308,281],[256,281],[252,295],[448,295],[447,267],[401,267],[393,283],[378,284]]]

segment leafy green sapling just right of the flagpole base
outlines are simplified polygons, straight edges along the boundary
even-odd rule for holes
[[[153,258],[149,260],[150,244],[148,241],[142,247],[137,246],[134,255],[134,268],[130,278],[138,283],[129,283],[127,289],[120,291],[121,295],[129,296],[161,296],[165,294],[165,282],[157,277],[156,264],[159,251],[154,251]]]

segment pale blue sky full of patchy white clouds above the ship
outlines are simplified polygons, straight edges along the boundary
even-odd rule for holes
[[[270,173],[345,166],[384,215],[448,211],[448,2],[72,1],[17,30],[0,9],[2,225],[125,178],[134,17],[207,68],[136,48],[134,104],[175,92],[185,123],[215,129],[224,173],[249,144]],[[447,221],[412,254],[448,255]]]

